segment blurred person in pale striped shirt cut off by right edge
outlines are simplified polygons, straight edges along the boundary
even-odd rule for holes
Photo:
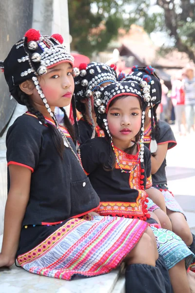
[[[195,131],[195,77],[192,67],[186,69],[186,78],[183,79],[185,91],[185,113],[187,130],[190,133],[191,127]]]

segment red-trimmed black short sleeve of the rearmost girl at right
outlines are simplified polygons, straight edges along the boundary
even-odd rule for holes
[[[157,145],[162,145],[168,143],[168,149],[176,146],[176,139],[171,126],[163,121],[158,121],[159,126],[159,138],[157,140]]]

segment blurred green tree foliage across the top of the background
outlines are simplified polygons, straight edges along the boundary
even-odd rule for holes
[[[118,28],[140,24],[164,32],[163,49],[177,48],[195,62],[195,0],[68,0],[72,50],[91,55],[117,37]]]

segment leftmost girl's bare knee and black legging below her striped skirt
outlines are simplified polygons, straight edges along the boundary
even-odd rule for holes
[[[172,293],[169,281],[156,265],[157,257],[155,236],[148,228],[126,258],[126,293]]]

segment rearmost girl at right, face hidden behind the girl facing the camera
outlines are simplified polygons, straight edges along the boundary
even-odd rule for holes
[[[146,108],[144,123],[144,145],[151,152],[152,181],[153,187],[160,190],[164,196],[167,215],[171,219],[172,230],[179,235],[187,246],[195,253],[195,236],[192,235],[186,221],[183,209],[180,207],[176,198],[167,187],[166,177],[166,153],[168,149],[176,146],[176,139],[170,125],[166,122],[157,121],[156,108],[161,101],[161,83],[156,75],[155,69],[151,66],[132,68],[133,72],[125,80],[138,80],[139,82],[148,75],[150,82],[151,103]],[[149,111],[151,115],[149,116]],[[158,205],[158,195],[154,193],[153,201]],[[194,241],[193,241],[194,237]]]

